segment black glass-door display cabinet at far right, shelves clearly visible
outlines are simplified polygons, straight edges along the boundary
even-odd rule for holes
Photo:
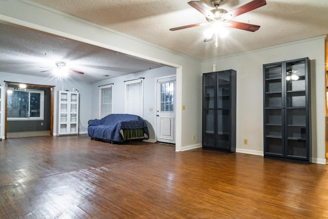
[[[310,60],[263,65],[264,157],[311,163]]]

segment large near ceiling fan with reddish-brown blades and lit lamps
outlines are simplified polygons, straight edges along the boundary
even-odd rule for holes
[[[206,6],[204,6],[199,1],[188,2],[188,4],[191,7],[195,8],[197,11],[199,11],[200,13],[205,15],[208,23],[191,24],[191,25],[171,28],[170,30],[175,31],[175,30],[181,30],[181,29],[186,29],[186,28],[190,28],[190,27],[198,27],[198,26],[202,26],[202,25],[215,24],[215,23],[220,23],[220,24],[224,23],[228,27],[237,28],[237,29],[241,29],[241,30],[247,30],[247,31],[251,31],[251,32],[257,31],[260,28],[260,26],[258,26],[258,25],[230,21],[230,19],[266,5],[267,2],[265,2],[265,0],[253,0],[252,2],[249,2],[243,6],[240,6],[230,12],[228,12],[226,9],[219,8],[222,1],[223,0],[212,0],[211,2],[213,4],[213,6],[215,7],[215,9],[213,9],[213,10],[209,10]],[[204,42],[211,41],[213,39],[213,37],[214,37],[214,34],[212,34],[212,36],[210,36],[210,37],[205,38]]]

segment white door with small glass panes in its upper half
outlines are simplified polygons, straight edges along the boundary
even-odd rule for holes
[[[156,141],[175,144],[176,76],[157,79]]]

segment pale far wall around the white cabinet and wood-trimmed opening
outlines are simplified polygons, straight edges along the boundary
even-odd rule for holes
[[[12,73],[5,73],[0,72],[0,85],[5,86],[7,82],[17,82],[17,83],[26,83],[26,84],[37,84],[37,85],[48,85],[48,86],[55,86],[54,89],[54,135],[58,132],[57,127],[57,95],[58,90],[61,90],[61,87],[64,86],[65,90],[71,90],[72,88],[76,88],[79,91],[79,133],[86,133],[88,127],[88,120],[90,119],[91,115],[91,106],[90,106],[90,99],[91,99],[91,84],[86,82],[77,82],[71,81],[70,79],[62,79],[61,81],[56,78],[51,77],[36,77],[36,76],[28,76],[22,74],[12,74]]]

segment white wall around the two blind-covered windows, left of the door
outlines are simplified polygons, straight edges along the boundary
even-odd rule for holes
[[[156,77],[176,74],[176,69],[172,67],[162,67],[129,74],[121,77],[106,79],[92,84],[92,118],[99,118],[99,86],[113,83],[113,113],[125,113],[125,83],[131,79],[145,77],[144,79],[144,120],[146,120],[149,130],[149,141],[155,141],[156,124]],[[153,108],[153,111],[149,111]]]

